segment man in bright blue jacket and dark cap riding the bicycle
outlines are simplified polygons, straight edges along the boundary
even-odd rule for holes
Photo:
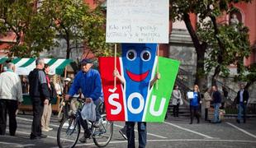
[[[69,88],[69,93],[65,95],[65,100],[69,100],[70,96],[75,95],[79,89],[85,98],[85,103],[93,103],[98,106],[101,103],[101,91],[102,91],[102,81],[99,72],[92,69],[92,61],[89,59],[83,59],[80,62],[81,71],[73,79],[73,84]],[[99,119],[101,118],[100,113],[96,108],[96,126]],[[84,130],[84,136],[79,139],[81,142],[86,142],[86,139],[91,136],[91,132],[88,129],[88,123],[83,121],[83,118],[79,118]]]

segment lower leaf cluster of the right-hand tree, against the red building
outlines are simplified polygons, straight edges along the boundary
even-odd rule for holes
[[[212,27],[211,21],[208,21],[197,30],[200,39],[208,43],[211,48],[206,58],[206,72],[211,72],[212,68],[219,66],[223,76],[228,76],[230,64],[238,64],[239,71],[244,72],[243,59],[248,58],[251,53],[248,28],[239,24],[237,25],[238,31],[236,31],[233,26],[219,25],[219,34],[216,36]],[[224,46],[221,51],[217,38]]]

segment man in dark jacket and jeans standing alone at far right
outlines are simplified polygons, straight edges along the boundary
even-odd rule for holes
[[[236,122],[240,123],[240,120],[242,118],[242,113],[243,113],[243,118],[244,118],[244,123],[246,123],[246,106],[249,100],[249,92],[248,90],[244,89],[244,84],[240,84],[240,90],[237,92],[236,96],[236,104],[238,104],[238,115]]]

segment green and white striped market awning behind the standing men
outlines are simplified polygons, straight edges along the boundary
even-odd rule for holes
[[[61,75],[64,68],[73,62],[71,59],[63,58],[44,58],[45,63],[50,65],[50,75]],[[15,58],[12,62],[16,66],[18,75],[28,75],[36,67],[36,58]]]

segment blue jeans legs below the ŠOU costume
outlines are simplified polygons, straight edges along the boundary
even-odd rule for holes
[[[138,122],[139,148],[145,148],[147,143],[147,125],[144,122]],[[126,133],[128,139],[128,148],[135,148],[135,122],[126,122]]]

